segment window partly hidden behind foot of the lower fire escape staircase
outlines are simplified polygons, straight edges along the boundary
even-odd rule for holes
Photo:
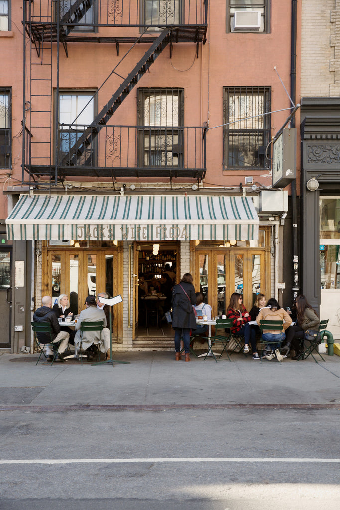
[[[67,158],[76,141],[84,134],[95,117],[96,101],[94,91],[59,94],[59,161]],[[72,161],[73,157],[70,157]],[[96,139],[77,158],[77,166],[96,166]]]

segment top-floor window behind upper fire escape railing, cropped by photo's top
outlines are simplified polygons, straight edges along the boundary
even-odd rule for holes
[[[181,0],[142,0],[143,24],[149,27],[178,25],[181,21]],[[161,30],[160,28],[153,30]]]

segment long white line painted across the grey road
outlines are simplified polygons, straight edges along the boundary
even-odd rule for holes
[[[189,462],[286,462],[286,463],[340,463],[340,458],[290,458],[290,457],[155,457],[155,458],[26,458],[0,460],[1,464],[132,464],[132,463],[189,463]]]

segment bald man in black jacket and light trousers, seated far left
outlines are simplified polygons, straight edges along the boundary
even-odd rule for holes
[[[69,334],[67,331],[61,331],[60,325],[57,319],[56,314],[52,310],[52,299],[50,296],[44,296],[41,300],[42,307],[38,308],[34,315],[34,322],[48,322],[52,329],[52,340],[54,344],[60,345],[58,347],[58,353],[56,356],[56,361],[64,361],[63,352],[65,351],[69,339]],[[50,342],[49,335],[46,333],[37,333],[37,338],[39,342]],[[46,355],[47,361],[53,360],[53,349],[46,345]]]

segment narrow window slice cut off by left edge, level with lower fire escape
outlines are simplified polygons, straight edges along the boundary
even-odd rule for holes
[[[12,168],[12,95],[0,88],[0,168]]]

